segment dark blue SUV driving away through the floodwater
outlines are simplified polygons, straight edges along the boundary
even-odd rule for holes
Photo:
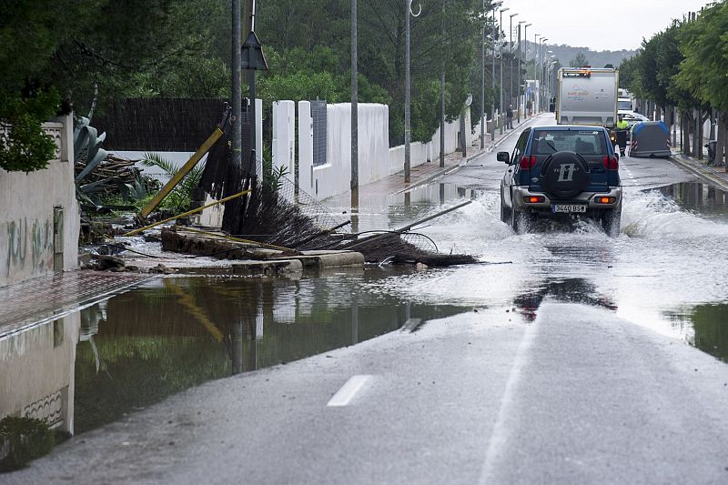
[[[602,126],[538,126],[523,131],[501,181],[501,220],[523,232],[531,219],[598,220],[617,236],[622,216],[619,157]]]

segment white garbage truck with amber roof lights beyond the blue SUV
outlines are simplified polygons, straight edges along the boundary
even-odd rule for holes
[[[619,71],[606,67],[562,67],[558,79],[556,123],[604,126],[613,135],[617,124]]]

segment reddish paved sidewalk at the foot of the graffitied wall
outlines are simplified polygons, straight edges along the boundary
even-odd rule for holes
[[[154,277],[79,270],[0,288],[0,338],[62,318],[149,278]]]

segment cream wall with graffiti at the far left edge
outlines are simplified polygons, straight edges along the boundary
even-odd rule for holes
[[[74,184],[73,118],[45,123],[56,141],[56,156],[44,170],[25,174],[0,169],[0,287],[54,272],[54,254],[63,268],[78,266],[81,222]],[[0,126],[0,138],[6,127]],[[63,208],[62,234],[54,237],[54,207]]]

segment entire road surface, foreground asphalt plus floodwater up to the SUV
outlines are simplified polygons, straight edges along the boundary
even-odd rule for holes
[[[728,197],[621,162],[619,237],[514,234],[492,153],[358,221],[472,200],[415,232],[480,264],[157,278],[0,338],[5,401],[78,435],[11,482],[724,482]]]

